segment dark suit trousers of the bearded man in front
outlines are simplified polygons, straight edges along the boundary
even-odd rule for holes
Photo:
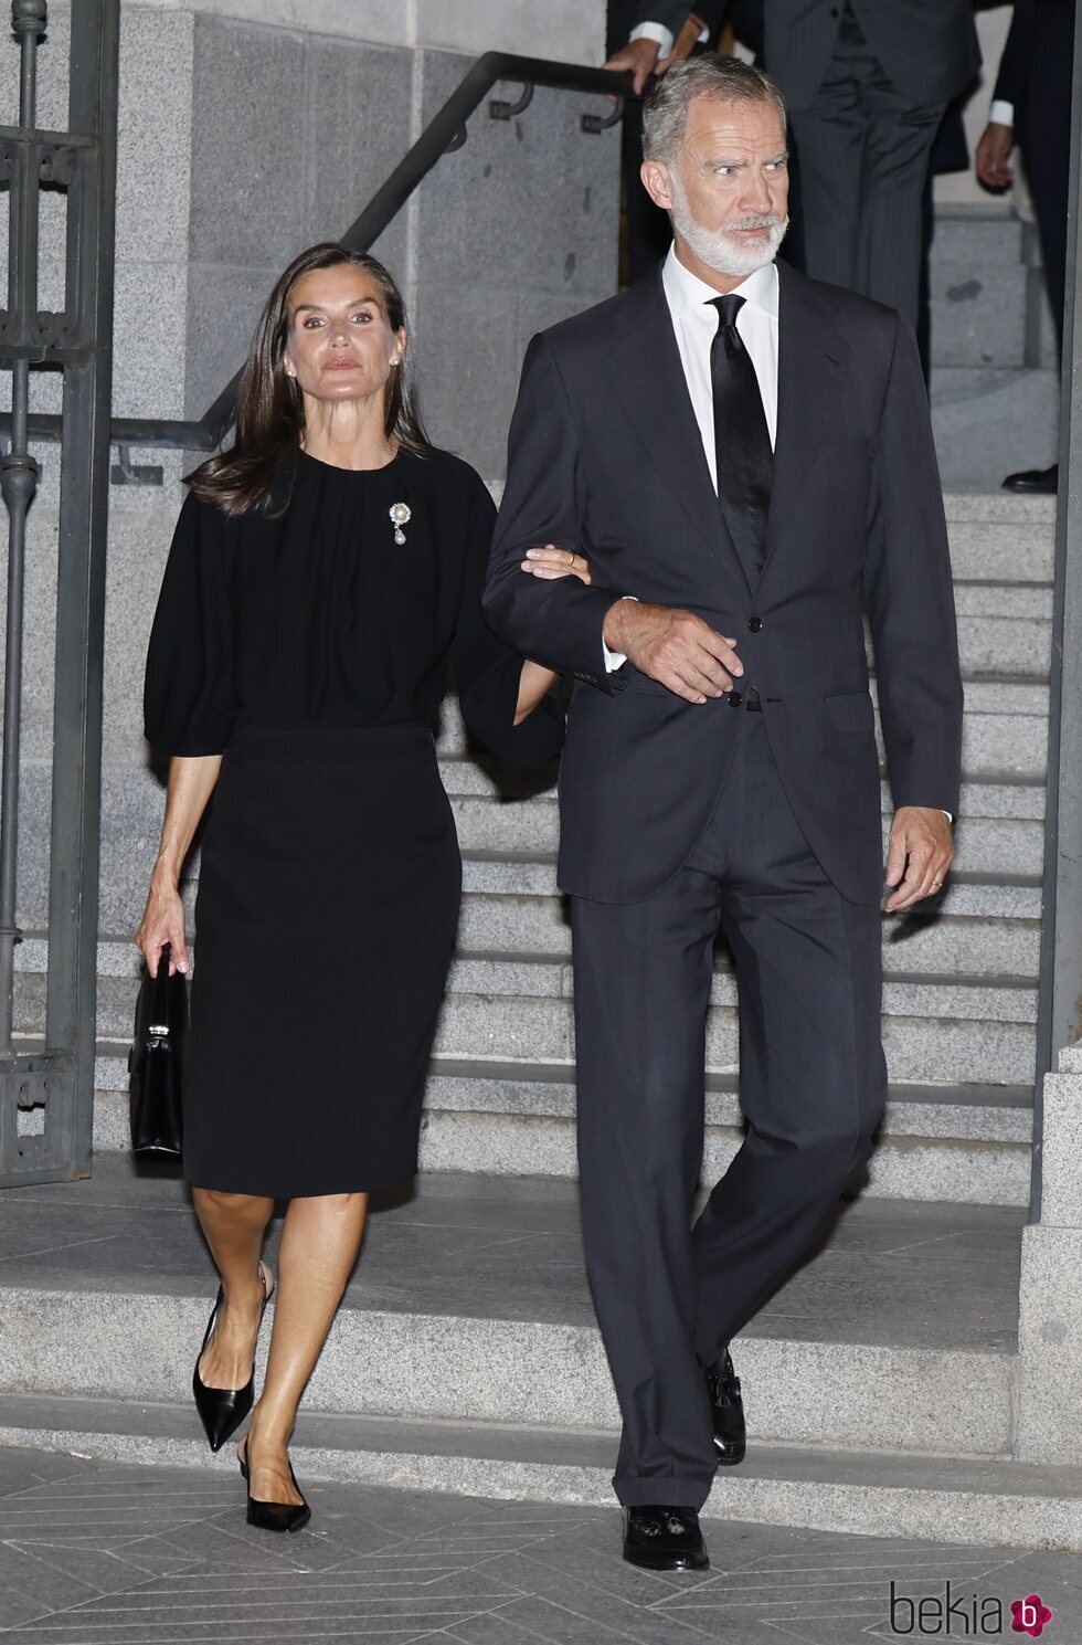
[[[825,878],[765,716],[740,711],[689,864],[643,903],[572,898],[572,926],[587,1268],[623,1413],[613,1485],[625,1504],[701,1507],[715,1456],[697,1355],[712,1362],[751,1319],[872,1152],[886,1097],[880,911]],[[719,926],[748,1130],[692,1229]]]

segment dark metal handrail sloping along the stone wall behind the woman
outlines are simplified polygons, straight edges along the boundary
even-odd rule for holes
[[[480,107],[488,92],[500,82],[511,81],[523,87],[544,86],[553,90],[597,92],[607,97],[635,97],[631,74],[615,74],[610,69],[590,69],[577,63],[551,63],[548,58],[520,58],[510,51],[487,51],[477,58],[442,109],[432,115],[411,150],[395,166],[386,183],[377,189],[360,217],[340,235],[350,252],[367,252],[393,222],[414,189],[424,181],[437,161],[465,141],[465,122]],[[493,104],[495,118],[508,118],[526,107]],[[584,115],[587,132],[608,125],[610,118]],[[113,418],[110,424],[115,446],[161,446],[173,451],[214,451],[234,421],[240,372],[207,406],[199,421],[178,418]],[[0,433],[10,433],[10,416],[0,415]],[[59,416],[31,416],[31,439],[59,439]]]

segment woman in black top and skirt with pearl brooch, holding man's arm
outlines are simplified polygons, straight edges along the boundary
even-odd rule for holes
[[[554,676],[485,627],[495,510],[426,439],[401,296],[372,257],[317,245],[271,293],[237,443],[189,479],[146,666],[171,755],[136,936],[187,971],[178,880],[202,811],[184,1175],[222,1275],[194,1393],[212,1449],[252,1410],[248,1522],[299,1530],[301,1393],[357,1258],[368,1193],[416,1171],[460,860],[429,721],[454,665],[500,763],[557,752]],[[539,576],[582,561],[539,549]],[[266,1383],[260,1260],[288,1199]]]

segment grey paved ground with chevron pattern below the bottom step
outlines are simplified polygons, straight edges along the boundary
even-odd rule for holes
[[[1082,1559],[707,1523],[712,1566],[620,1559],[612,1508],[319,1484],[311,1528],[243,1522],[222,1471],[0,1451],[0,1638],[26,1645],[868,1645],[1082,1640]],[[893,1584],[893,1589],[891,1589]],[[1011,1601],[1039,1596],[1029,1632]],[[893,1607],[891,1607],[893,1599]],[[922,1606],[922,1609],[921,1609]],[[952,1610],[949,1607],[954,1607]]]

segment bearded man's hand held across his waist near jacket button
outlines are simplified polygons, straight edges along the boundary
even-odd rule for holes
[[[705,702],[732,691],[743,674],[737,642],[715,633],[702,617],[673,605],[617,600],[605,614],[605,645],[686,702]]]

